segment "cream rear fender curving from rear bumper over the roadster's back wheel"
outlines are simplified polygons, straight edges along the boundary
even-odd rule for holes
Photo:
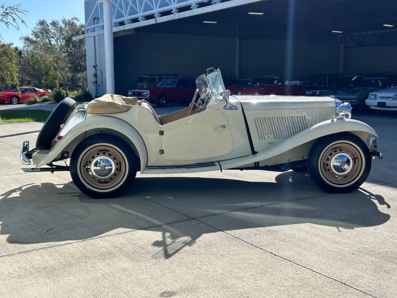
[[[146,168],[147,151],[141,135],[127,122],[114,117],[94,116],[74,126],[38,164],[37,167],[50,163],[60,157],[60,154],[69,143],[79,135],[90,130],[109,129],[124,135],[136,147],[141,161],[141,172]]]

